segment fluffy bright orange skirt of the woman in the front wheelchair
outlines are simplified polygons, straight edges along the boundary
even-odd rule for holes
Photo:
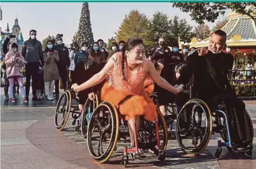
[[[157,118],[157,107],[155,106],[148,93],[141,91],[140,94],[134,95],[127,99],[122,105],[118,104],[129,93],[119,91],[109,86],[108,82],[101,88],[101,100],[111,102],[119,110],[119,113],[125,116],[125,120],[144,116],[145,120],[155,121]]]

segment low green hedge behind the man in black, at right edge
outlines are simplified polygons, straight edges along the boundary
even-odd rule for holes
[[[232,84],[233,89],[236,91],[236,95],[239,97],[254,96],[255,84]]]

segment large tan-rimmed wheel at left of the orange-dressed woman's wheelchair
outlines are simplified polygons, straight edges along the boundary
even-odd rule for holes
[[[88,150],[95,161],[104,163],[115,150],[119,118],[115,106],[102,102],[93,112],[87,129]]]

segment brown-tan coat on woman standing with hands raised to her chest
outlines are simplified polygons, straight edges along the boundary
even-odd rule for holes
[[[44,81],[59,80],[59,70],[56,62],[59,62],[58,52],[54,50],[53,55],[48,55],[49,52],[44,52]]]

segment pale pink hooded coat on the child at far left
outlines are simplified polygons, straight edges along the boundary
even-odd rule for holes
[[[12,42],[9,45],[9,52],[6,53],[5,55],[7,78],[15,77],[15,76],[23,77],[22,67],[26,63],[26,61],[24,60],[24,57],[20,55],[19,49],[16,53],[13,52],[13,49],[11,48],[11,45],[13,43],[17,44],[16,42]]]

